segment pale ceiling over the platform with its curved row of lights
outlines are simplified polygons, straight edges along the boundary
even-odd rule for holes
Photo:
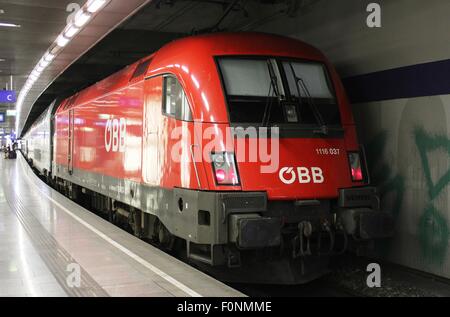
[[[150,1],[109,0],[104,8],[89,16],[89,23],[76,36],[61,44],[57,37],[63,30],[67,34],[68,21],[73,20],[75,10],[87,6],[87,0],[0,0],[0,87],[12,86],[20,92],[14,105],[17,116],[8,117],[8,122],[0,123],[0,127],[22,131],[30,110],[49,85]],[[49,50],[53,55],[47,55]],[[44,55],[55,57],[42,66]],[[30,76],[33,71],[34,79]]]

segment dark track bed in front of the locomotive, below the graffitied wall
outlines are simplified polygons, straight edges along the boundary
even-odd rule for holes
[[[348,255],[329,275],[305,285],[230,286],[253,297],[449,297],[450,281],[399,265],[378,262],[382,268],[381,287],[367,286],[369,263],[373,259]]]

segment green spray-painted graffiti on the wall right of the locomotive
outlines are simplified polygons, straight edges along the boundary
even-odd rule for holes
[[[443,212],[438,210],[434,202],[450,185],[450,170],[437,180],[433,180],[429,154],[436,150],[444,150],[450,156],[450,139],[443,135],[432,135],[423,128],[413,131],[414,143],[420,156],[421,169],[426,180],[427,202],[417,224],[417,235],[423,257],[429,264],[442,266],[448,250],[450,231]],[[405,195],[405,177],[395,173],[393,168],[384,161],[388,134],[379,133],[367,146],[371,175],[379,188],[382,200],[391,196],[390,209],[398,218],[402,210]]]

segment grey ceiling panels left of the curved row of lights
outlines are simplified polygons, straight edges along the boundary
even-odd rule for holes
[[[0,0],[0,22],[20,25],[0,28],[0,89],[7,85],[11,89],[11,75],[16,86],[23,85],[36,64],[36,52],[45,51],[66,24],[65,9],[71,2],[73,0]],[[0,103],[2,113],[13,108],[13,104]],[[13,129],[14,119],[8,117],[0,124],[1,130]]]

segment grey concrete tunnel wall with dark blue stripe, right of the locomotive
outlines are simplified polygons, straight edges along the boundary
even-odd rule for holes
[[[366,25],[371,2],[381,5],[378,29]],[[296,18],[260,30],[307,41],[328,55],[342,77],[368,74],[372,81],[363,83],[379,86],[365,87],[372,95],[362,96],[364,102],[353,108],[383,206],[397,220],[396,237],[380,252],[396,263],[450,278],[450,85],[441,95],[427,89],[418,97],[413,93],[449,82],[450,72],[439,77],[432,71],[414,84],[409,82],[415,76],[391,82],[405,86],[405,95],[388,100],[383,91],[392,87],[381,82],[399,67],[411,66],[407,74],[414,74],[419,64],[450,59],[450,1],[320,0]],[[372,76],[384,70],[392,71]],[[377,89],[380,98],[374,99]]]

